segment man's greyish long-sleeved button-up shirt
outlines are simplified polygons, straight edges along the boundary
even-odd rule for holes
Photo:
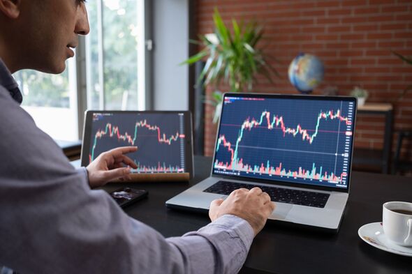
[[[224,215],[164,238],[90,190],[84,169],[70,165],[20,102],[0,59],[0,266],[21,274],[239,271],[253,240],[248,222]]]

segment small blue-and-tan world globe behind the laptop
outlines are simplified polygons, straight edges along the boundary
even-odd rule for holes
[[[312,54],[301,53],[289,65],[290,83],[301,93],[311,93],[323,80],[323,63]]]

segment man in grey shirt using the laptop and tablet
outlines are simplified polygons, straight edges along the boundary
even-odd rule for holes
[[[274,204],[259,188],[212,201],[206,227],[163,238],[103,190],[135,147],[75,170],[20,107],[10,73],[61,73],[89,32],[81,0],[0,0],[0,266],[38,273],[236,273]]]

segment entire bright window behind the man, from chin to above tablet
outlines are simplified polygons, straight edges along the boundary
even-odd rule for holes
[[[147,107],[149,0],[89,0],[90,33],[61,75],[22,70],[22,107],[54,139],[81,139],[84,110]],[[87,94],[87,96],[84,96]]]

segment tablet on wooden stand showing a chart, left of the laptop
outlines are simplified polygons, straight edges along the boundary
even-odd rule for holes
[[[138,146],[128,157],[136,181],[186,181],[193,178],[193,138],[189,111],[86,112],[82,140],[82,166],[104,151]]]

